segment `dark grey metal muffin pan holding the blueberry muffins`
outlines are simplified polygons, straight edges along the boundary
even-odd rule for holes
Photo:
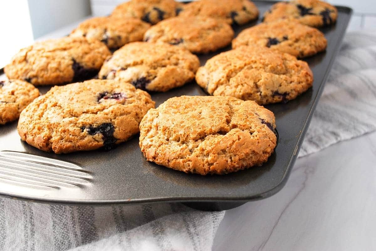
[[[255,3],[260,22],[274,2]],[[326,52],[305,59],[314,73],[313,87],[288,103],[266,106],[276,116],[279,143],[263,166],[222,176],[186,174],[146,161],[138,135],[111,151],[56,155],[21,141],[14,122],[0,126],[0,195],[61,204],[188,202],[191,207],[220,210],[277,193],[297,158],[351,16],[350,8],[337,8],[337,23],[321,29],[328,40]],[[255,24],[234,29],[238,33]],[[217,53],[200,55],[201,63]],[[44,93],[48,88],[40,90]],[[158,106],[181,95],[206,93],[192,82],[166,93],[152,93],[152,98]]]

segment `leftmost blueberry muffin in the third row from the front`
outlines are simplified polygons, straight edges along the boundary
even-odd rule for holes
[[[86,37],[105,43],[109,49],[142,41],[150,24],[137,18],[93,17],[83,21],[72,31],[71,37]]]

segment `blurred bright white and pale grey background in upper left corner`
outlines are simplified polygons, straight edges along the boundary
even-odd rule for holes
[[[89,0],[0,0],[0,68],[20,48],[88,15]]]

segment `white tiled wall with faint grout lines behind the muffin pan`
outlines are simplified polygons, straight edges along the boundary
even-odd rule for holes
[[[230,1],[230,0],[229,0]],[[104,16],[111,13],[124,0],[90,0],[94,16]],[[347,30],[375,29],[376,30],[376,0],[327,0],[333,5],[349,6],[353,9],[353,17]]]

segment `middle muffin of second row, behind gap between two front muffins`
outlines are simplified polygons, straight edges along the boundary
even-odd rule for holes
[[[101,79],[122,79],[147,91],[168,91],[194,79],[199,58],[165,43],[135,42],[117,50],[102,66]]]

